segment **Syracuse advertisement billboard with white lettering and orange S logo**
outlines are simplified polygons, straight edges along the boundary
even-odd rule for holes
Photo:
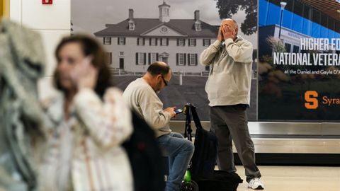
[[[322,2],[259,0],[259,120],[340,120],[339,4]]]

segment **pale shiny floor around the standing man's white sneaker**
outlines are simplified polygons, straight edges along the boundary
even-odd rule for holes
[[[259,166],[266,191],[340,191],[340,167]],[[250,191],[243,166],[237,173],[244,179],[237,191]]]

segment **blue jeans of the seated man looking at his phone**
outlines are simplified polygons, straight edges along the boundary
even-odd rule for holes
[[[169,177],[165,191],[178,191],[193,156],[193,143],[174,132],[158,137],[157,141],[163,155],[169,158]]]

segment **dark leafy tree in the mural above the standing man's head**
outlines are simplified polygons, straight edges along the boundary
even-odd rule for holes
[[[245,11],[246,19],[241,23],[241,31],[251,35],[257,31],[257,1],[256,0],[215,0],[220,18],[231,18],[237,11]]]

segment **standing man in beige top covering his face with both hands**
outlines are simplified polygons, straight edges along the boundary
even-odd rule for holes
[[[217,40],[200,54],[203,66],[210,66],[205,84],[210,105],[210,123],[218,140],[217,165],[220,170],[236,172],[232,140],[246,170],[248,187],[264,188],[255,163],[254,144],[248,130],[246,108],[250,103],[251,42],[237,36],[238,25],[232,18],[222,21]]]

